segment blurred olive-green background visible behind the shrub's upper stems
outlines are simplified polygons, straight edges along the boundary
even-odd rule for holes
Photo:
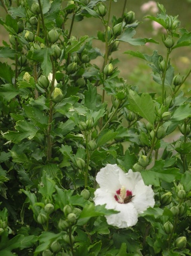
[[[106,1],[107,3],[108,1]],[[112,2],[112,15],[120,17],[124,7],[125,0],[118,0],[118,2]],[[119,51],[113,53],[113,58],[118,58],[118,69],[121,71],[121,77],[127,80],[128,84],[138,86],[140,92],[156,92],[160,93],[161,88],[152,80],[152,71],[147,66],[144,60],[131,57],[128,54],[124,54],[124,51],[135,50],[141,51],[141,53],[152,54],[153,50],[158,50],[158,53],[162,56],[166,55],[166,48],[162,44],[161,36],[162,29],[153,25],[149,19],[144,19],[147,15],[156,15],[156,10],[153,8],[151,2],[145,0],[129,0],[127,1],[126,11],[134,11],[135,18],[140,22],[137,33],[134,37],[137,38],[153,38],[159,42],[159,44],[151,44],[144,46],[133,46],[125,42],[120,42]],[[190,0],[161,0],[160,4],[163,4],[167,10],[167,14],[177,16],[181,22],[181,28],[186,28],[187,31],[191,31],[191,1]],[[67,1],[63,1],[63,6],[66,6]],[[0,6],[0,16],[5,17],[5,11]],[[72,14],[70,15],[70,18]],[[67,20],[66,28],[70,27],[71,20]],[[97,36],[97,31],[104,31],[104,26],[101,20],[96,18],[84,18],[81,22],[75,22],[72,35],[77,37],[82,35]],[[8,42],[8,33],[1,26],[0,29],[0,46],[3,45],[3,40]],[[104,43],[94,39],[94,47],[100,48],[104,53]],[[95,61],[96,65],[102,66],[103,58],[98,58]],[[171,63],[175,66],[175,74],[180,72],[181,75],[186,75],[191,65],[191,48],[181,47],[172,51]],[[187,93],[191,83],[191,77],[183,85],[184,93]]]

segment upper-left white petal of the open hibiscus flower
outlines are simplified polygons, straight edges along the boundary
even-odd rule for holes
[[[124,172],[116,164],[107,164],[97,173],[96,181],[100,187],[107,191],[115,193],[121,188],[119,176],[124,175]]]

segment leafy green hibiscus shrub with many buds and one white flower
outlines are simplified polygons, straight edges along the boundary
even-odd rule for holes
[[[0,254],[190,255],[190,71],[175,74],[170,56],[191,32],[161,4],[147,16],[164,28],[166,54],[125,52],[161,89],[139,93],[112,54],[120,42],[156,41],[133,37],[133,11],[111,17],[120,1],[15,4],[1,1],[10,41],[0,47]],[[91,17],[103,30],[77,38],[75,24]]]

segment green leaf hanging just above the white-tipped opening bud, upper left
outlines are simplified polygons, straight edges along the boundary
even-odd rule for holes
[[[41,68],[43,74],[48,76],[52,71],[52,64],[50,56],[53,54],[52,48],[42,48],[41,50],[35,50],[32,54],[32,59],[41,62]]]

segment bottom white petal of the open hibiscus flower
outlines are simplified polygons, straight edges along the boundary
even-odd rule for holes
[[[112,214],[106,216],[107,223],[119,228],[132,227],[138,221],[138,213],[135,209],[133,203],[117,203],[116,211],[119,211],[119,214]]]

